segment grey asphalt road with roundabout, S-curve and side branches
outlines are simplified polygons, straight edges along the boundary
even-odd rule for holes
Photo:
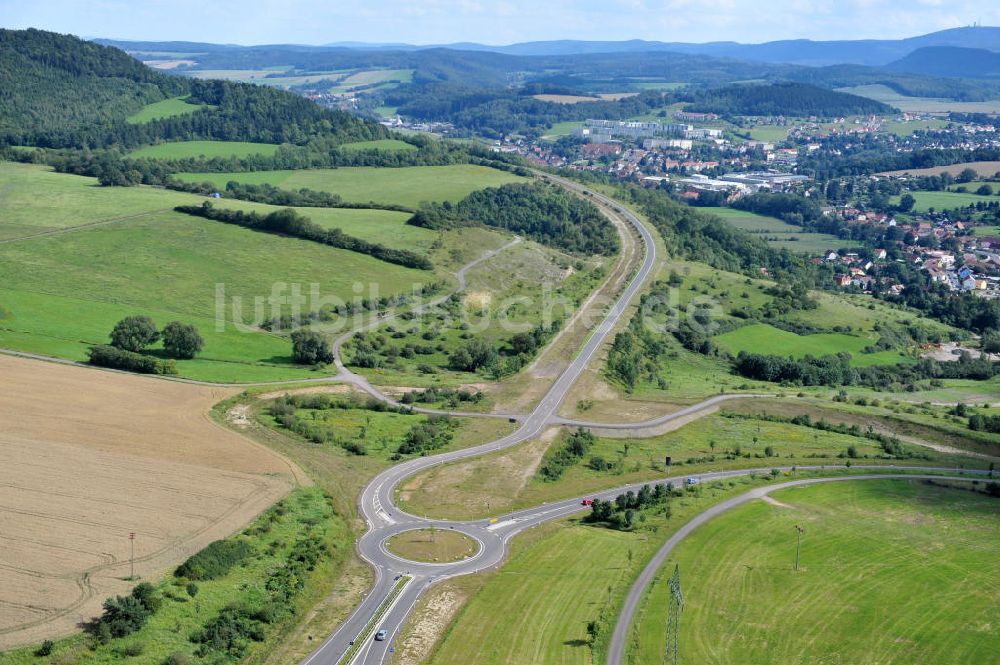
[[[550,387],[541,402],[530,414],[520,418],[520,426],[515,432],[503,438],[497,439],[496,441],[476,446],[474,448],[467,448],[440,455],[419,457],[408,460],[402,464],[386,469],[372,479],[371,482],[369,482],[369,484],[362,490],[359,498],[359,508],[361,514],[368,523],[369,530],[358,541],[358,552],[362,558],[368,561],[374,568],[375,584],[371,591],[365,595],[364,599],[354,612],[340,624],[333,635],[324,641],[312,655],[303,661],[303,665],[353,665],[355,663],[365,663],[370,665],[385,663],[389,658],[391,650],[394,649],[394,644],[396,638],[398,637],[398,631],[404,624],[406,617],[413,609],[420,595],[429,586],[449,577],[466,575],[498,567],[506,556],[507,542],[513,536],[524,531],[525,529],[537,526],[543,522],[559,519],[582,510],[586,510],[586,507],[581,504],[581,498],[573,498],[511,513],[509,515],[505,515],[503,518],[494,520],[428,520],[405,513],[398,509],[393,503],[395,488],[409,476],[439,464],[502,450],[530,440],[538,436],[549,425],[578,424],[581,426],[604,428],[651,427],[677,418],[690,416],[699,411],[711,408],[727,399],[747,397],[747,395],[718,395],[705,400],[700,404],[695,404],[682,409],[677,413],[669,414],[644,423],[589,423],[586,421],[567,420],[556,415],[557,409],[566,398],[566,395],[569,393],[569,390],[572,388],[577,378],[579,378],[580,374],[585,369],[587,363],[607,339],[608,335],[614,329],[614,326],[618,323],[619,319],[625,312],[628,303],[636,295],[646,278],[652,272],[656,261],[656,246],[653,242],[652,235],[648,230],[646,230],[645,226],[643,226],[643,224],[634,215],[618,206],[617,203],[608,197],[596,192],[589,192],[586,188],[581,187],[576,183],[563,180],[562,178],[554,176],[549,176],[549,178],[568,189],[572,189],[579,193],[588,193],[593,199],[624,216],[638,231],[646,247],[646,255],[641,268],[629,282],[621,296],[619,296],[614,306],[608,311],[601,324],[595,329],[580,353]],[[483,257],[483,260],[486,258],[489,257]],[[464,279],[462,277],[460,277],[459,282],[461,286],[464,287]],[[382,321],[377,322],[375,325],[380,323],[382,323]],[[355,383],[355,385],[358,385],[361,389],[369,392],[369,394],[374,397],[379,399],[388,399],[379,393],[376,388],[370,386],[362,377],[356,377],[354,379],[350,378],[356,375],[351,374],[342,365],[339,357],[339,351],[343,346],[343,343],[349,337],[350,334],[345,334],[341,336],[335,344],[338,368],[341,370],[342,376],[345,377],[345,380]],[[836,467],[798,468],[805,470],[809,468],[824,469]],[[856,466],[854,468],[866,467]],[[895,468],[905,469],[908,467]],[[929,470],[926,467],[915,467],[914,469],[923,470],[925,472]],[[941,472],[961,472],[959,469],[934,470]],[[695,477],[700,480],[708,481],[717,478],[748,475],[759,471],[760,469],[718,471],[698,474]],[[675,477],[673,480],[679,480],[679,478]],[[590,496],[612,499],[624,491],[627,487],[628,486],[625,486],[624,488],[605,490]],[[387,538],[404,531],[422,529],[430,526],[434,526],[442,530],[454,529],[470,536],[479,543],[480,547],[478,553],[470,559],[457,563],[427,564],[400,559],[390,554],[385,549],[385,541]],[[384,601],[389,597],[391,591],[395,587],[397,578],[402,575],[408,575],[411,578],[411,581],[396,597],[388,610],[384,611],[382,618],[378,621],[378,625],[369,627],[369,623],[372,622],[373,617],[376,615],[379,608],[383,605]],[[387,637],[385,640],[375,641],[372,640],[370,636],[366,636],[364,638],[364,642],[359,645],[360,649],[355,653],[350,661],[347,661],[344,659],[344,655],[350,649],[351,644],[360,639],[360,636],[366,631],[366,628],[374,630],[384,629],[387,632]]]

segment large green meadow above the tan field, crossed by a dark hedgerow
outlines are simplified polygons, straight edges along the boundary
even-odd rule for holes
[[[8,192],[0,198],[5,348],[85,360],[87,347],[106,343],[118,320],[148,314],[160,326],[192,323],[205,338],[198,358],[178,362],[182,376],[223,382],[307,378],[316,372],[292,364],[287,338],[235,328],[234,297],[241,299],[240,318],[250,321],[254,298],[266,299],[275,284],[299,284],[307,296],[316,284],[320,296],[349,301],[355,283],[365,285],[365,296],[369,285],[391,295],[435,279],[363,254],[172,210],[205,200],[191,194],[99,187],[93,178],[10,163],[0,163],[0,189]],[[226,199],[220,204],[268,208]],[[437,236],[406,226],[405,213],[306,212],[319,224],[417,251],[429,251]],[[216,285],[225,289],[222,330],[216,330]],[[260,309],[266,318],[288,312],[263,301]]]

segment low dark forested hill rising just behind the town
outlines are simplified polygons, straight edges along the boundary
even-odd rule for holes
[[[845,116],[891,113],[892,107],[866,97],[804,83],[730,85],[682,95],[688,110],[721,115]]]

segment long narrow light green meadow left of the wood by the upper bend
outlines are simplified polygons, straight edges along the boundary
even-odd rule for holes
[[[188,182],[211,182],[224,188],[230,180],[252,185],[270,184],[282,189],[303,187],[339,194],[345,201],[416,207],[422,201],[460,201],[477,189],[498,187],[523,178],[486,166],[367,166],[306,171],[254,171],[250,173],[178,173]]]

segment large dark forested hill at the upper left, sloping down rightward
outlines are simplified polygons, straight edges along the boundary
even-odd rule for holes
[[[132,147],[155,140],[304,144],[383,138],[380,125],[293,93],[156,72],[116,48],[41,30],[0,30],[0,145]],[[145,124],[146,104],[187,96],[200,110]]]

